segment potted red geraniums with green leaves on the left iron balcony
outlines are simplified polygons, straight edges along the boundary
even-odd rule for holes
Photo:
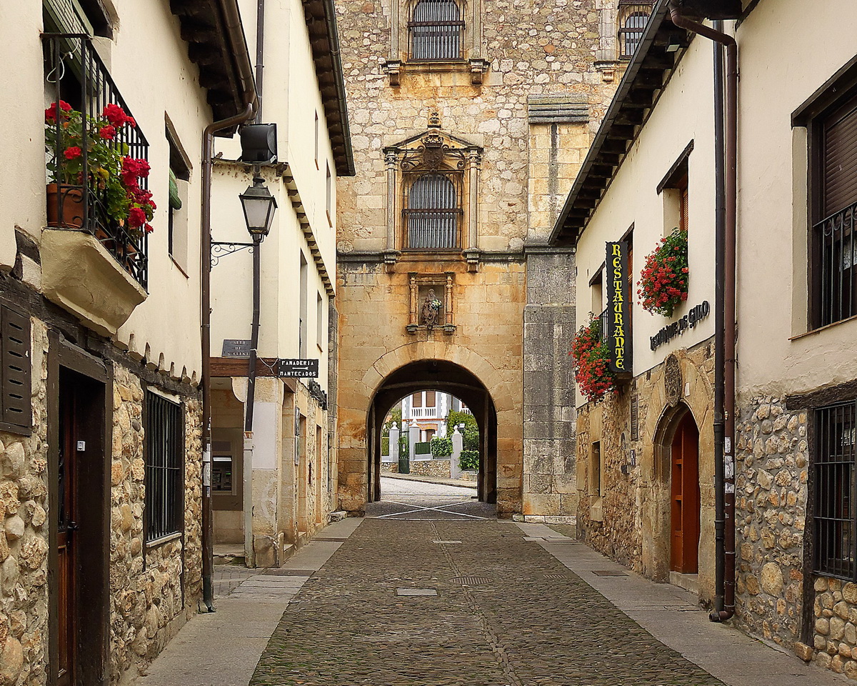
[[[50,156],[48,226],[81,228],[86,187],[97,201],[89,212],[100,224],[121,227],[129,238],[152,231],[149,222],[155,203],[140,185],[140,179],[149,174],[149,164],[146,159],[130,157],[128,144],[119,135],[123,128],[135,126],[134,118],[112,103],[98,117],[84,115],[63,100],[45,110],[45,149]],[[105,233],[97,238],[108,237]]]

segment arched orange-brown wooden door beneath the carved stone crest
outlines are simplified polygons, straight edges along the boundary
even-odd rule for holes
[[[670,567],[696,574],[699,547],[699,432],[687,412],[672,446],[672,551]]]

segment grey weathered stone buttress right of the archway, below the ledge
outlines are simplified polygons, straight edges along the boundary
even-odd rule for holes
[[[524,307],[524,512],[577,514],[571,254],[527,255]]]

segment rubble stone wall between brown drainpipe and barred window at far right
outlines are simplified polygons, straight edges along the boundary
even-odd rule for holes
[[[753,635],[790,648],[800,639],[803,612],[806,410],[789,411],[774,397],[742,403],[735,426],[735,460],[735,622]],[[826,581],[823,586],[820,590],[828,592]],[[830,593],[839,590],[838,582],[831,581]],[[835,602],[840,601],[841,597]],[[829,608],[817,607],[818,617],[823,609]],[[841,635],[836,638],[842,640]],[[820,643],[826,650],[826,638]],[[834,653],[838,649],[837,643]]]

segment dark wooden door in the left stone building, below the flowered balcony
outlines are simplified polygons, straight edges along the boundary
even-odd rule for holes
[[[75,597],[75,569],[79,546],[75,545],[77,529],[77,451],[75,440],[75,393],[69,384],[63,384],[59,397],[59,479],[57,516],[57,596],[59,599],[59,657],[58,686],[75,683],[75,643],[77,636],[77,602]]]

